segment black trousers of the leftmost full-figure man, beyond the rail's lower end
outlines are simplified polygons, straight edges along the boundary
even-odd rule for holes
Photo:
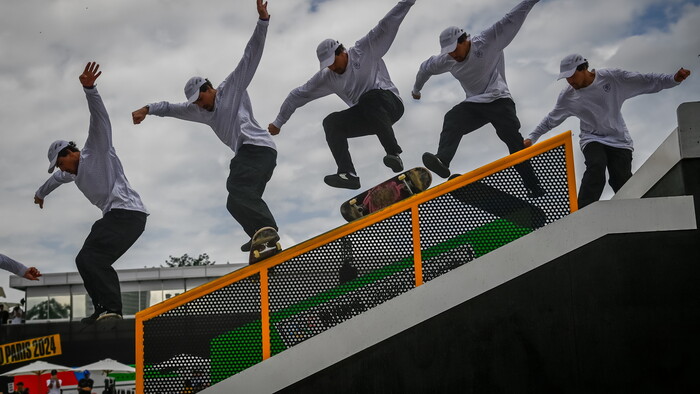
[[[139,239],[146,228],[146,216],[143,212],[112,209],[92,225],[75,264],[96,310],[101,307],[121,312],[119,277],[112,264]]]

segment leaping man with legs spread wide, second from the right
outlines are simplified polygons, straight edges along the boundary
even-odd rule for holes
[[[431,76],[446,72],[460,82],[467,96],[445,114],[437,154],[423,154],[423,164],[442,178],[450,176],[450,162],[462,136],[487,123],[493,125],[511,154],[525,147],[515,103],[506,84],[503,50],[538,1],[522,1],[503,19],[474,37],[459,27],[448,27],[440,33],[440,54],[420,65],[412,91],[414,99],[420,100],[421,89]],[[536,198],[544,193],[529,161],[515,168],[528,189],[528,197]]]

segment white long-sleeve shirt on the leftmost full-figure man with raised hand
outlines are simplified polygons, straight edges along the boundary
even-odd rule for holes
[[[39,187],[36,196],[46,198],[64,183],[75,182],[78,189],[102,214],[112,209],[148,213],[141,196],[131,188],[124,168],[112,146],[112,125],[97,88],[83,88],[90,110],[90,126],[80,151],[78,174],[57,170]]]

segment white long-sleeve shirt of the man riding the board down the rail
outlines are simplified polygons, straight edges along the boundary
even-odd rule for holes
[[[216,88],[213,111],[186,102],[172,104],[162,101],[149,104],[148,113],[206,124],[234,153],[243,144],[276,149],[270,133],[255,120],[253,105],[246,90],[260,64],[268,25],[269,21],[258,20],[253,36],[243,52],[243,58],[236,69]]]

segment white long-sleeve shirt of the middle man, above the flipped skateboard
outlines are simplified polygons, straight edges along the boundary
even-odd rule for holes
[[[314,74],[304,85],[292,90],[282,103],[273,125],[282,127],[297,108],[335,93],[352,107],[360,96],[374,89],[388,90],[401,99],[382,59],[391,48],[401,22],[416,0],[401,0],[366,36],[347,50],[348,67],[338,74],[327,67]]]

